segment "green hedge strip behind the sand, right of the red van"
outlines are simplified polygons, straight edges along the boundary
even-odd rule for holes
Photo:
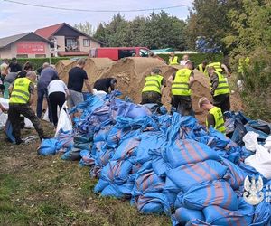
[[[168,62],[169,54],[157,54],[159,57],[163,58],[164,61]],[[188,54],[189,59],[195,63],[195,66],[199,65],[202,61],[219,61],[222,62],[224,60],[222,53],[192,53]],[[183,54],[175,54],[178,56],[179,61],[182,60]]]

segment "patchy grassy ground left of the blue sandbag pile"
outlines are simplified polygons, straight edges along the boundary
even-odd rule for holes
[[[43,123],[46,131],[51,131]],[[0,132],[0,225],[170,225],[142,215],[128,201],[93,193],[89,168],[36,154],[39,143],[14,146]],[[23,130],[23,137],[30,130]]]

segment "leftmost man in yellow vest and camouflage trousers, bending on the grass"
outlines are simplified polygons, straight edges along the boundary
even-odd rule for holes
[[[16,145],[23,142],[21,139],[20,115],[28,118],[33,123],[41,140],[45,138],[40,120],[35,115],[33,108],[31,108],[34,94],[33,81],[35,80],[36,73],[34,71],[28,71],[26,77],[14,80],[14,83],[9,87],[11,95],[9,99],[8,119],[13,127]]]

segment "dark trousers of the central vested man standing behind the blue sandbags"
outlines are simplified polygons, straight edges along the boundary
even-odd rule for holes
[[[172,105],[182,116],[194,116],[191,96],[173,95]]]

